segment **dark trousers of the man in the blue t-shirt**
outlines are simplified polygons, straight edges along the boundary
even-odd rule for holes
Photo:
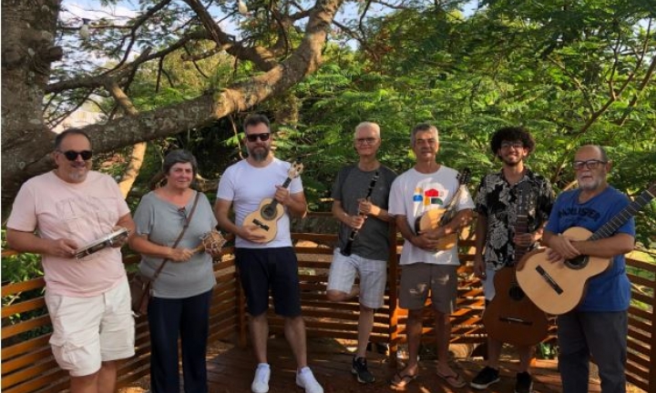
[[[603,393],[625,393],[627,311],[571,311],[558,317],[559,371],[563,393],[588,391],[589,360],[599,367]]]

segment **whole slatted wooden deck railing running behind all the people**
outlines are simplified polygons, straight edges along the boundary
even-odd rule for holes
[[[302,312],[309,337],[357,338],[358,304],[355,301],[331,303],[325,299],[325,285],[333,254],[333,235],[294,234],[299,257],[302,290]],[[482,289],[471,274],[473,247],[471,240],[461,241],[458,270],[458,309],[452,316],[452,342],[482,343],[486,339],[481,324],[484,307]],[[405,341],[405,310],[397,307],[397,287],[400,268],[395,247],[388,264],[388,286],[385,289],[384,307],[376,310],[372,341],[390,344],[390,359]],[[218,286],[214,290],[210,309],[210,340],[236,341],[246,345],[246,306],[234,266],[233,248],[226,247],[221,261],[214,266]],[[11,252],[3,251],[3,257]],[[134,264],[137,257],[127,257],[126,264]],[[633,302],[629,310],[629,361],[627,377],[630,383],[645,391],[656,388],[656,370],[651,370],[651,359],[656,358],[656,323],[653,307],[656,303],[656,266],[628,259],[629,277],[633,283]],[[57,392],[68,387],[67,373],[56,365],[48,339],[50,319],[43,299],[43,278],[6,284],[2,287],[2,391],[4,393]],[[19,300],[19,295],[36,291],[37,295]],[[15,299],[15,301],[11,301]],[[426,317],[430,313],[426,310]],[[282,333],[282,318],[271,316],[271,330]],[[137,318],[136,351],[133,358],[120,362],[118,385],[124,387],[149,373],[149,329],[145,318]],[[425,340],[432,340],[433,324],[425,323]],[[555,327],[548,341],[554,341]]]

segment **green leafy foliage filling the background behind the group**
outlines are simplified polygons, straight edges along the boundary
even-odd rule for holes
[[[151,4],[142,3],[146,8]],[[248,5],[249,17],[234,14],[234,4],[212,6],[239,24],[245,45],[275,42],[281,26],[266,11],[273,5],[258,0]],[[471,2],[411,1],[377,14],[368,3],[356,6],[369,10],[367,17],[343,15],[344,28],[331,31],[317,72],[249,112],[153,143],[138,186],[174,146],[188,148],[199,158],[203,176],[220,176],[240,158],[240,124],[251,112],[265,113],[274,121],[277,155],[302,159],[303,183],[313,209],[330,207],[334,176],[339,167],[356,160],[354,127],[365,120],[381,125],[379,155],[399,173],[414,164],[410,129],[427,121],[440,130],[438,160],[470,167],[473,185],[497,170],[489,137],[507,125],[527,126],[535,136],[538,146],[528,165],[548,176],[557,192],[570,186],[572,156],[588,143],[608,148],[614,163],[610,183],[630,196],[656,178],[651,67],[656,37],[650,2],[488,0],[465,12]],[[181,4],[167,7],[144,26],[144,41],[167,47],[173,22],[189,15]],[[200,28],[194,19],[185,27]],[[343,44],[349,31],[358,33],[357,48]],[[275,45],[281,49],[280,58],[301,38],[293,29],[285,33],[286,41]],[[109,34],[98,31],[98,39],[84,45],[108,41],[102,50],[110,52],[118,42]],[[161,66],[145,66],[130,86],[139,110],[220,91],[261,73],[257,65],[232,62],[222,52],[195,62],[180,60],[200,59],[213,45],[190,41],[167,55]],[[281,116],[283,112],[294,115]],[[639,243],[653,247],[654,205],[636,220]]]

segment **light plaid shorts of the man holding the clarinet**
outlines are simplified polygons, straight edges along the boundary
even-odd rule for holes
[[[387,262],[355,254],[345,257],[339,248],[335,248],[328,277],[328,290],[351,293],[356,276],[360,277],[360,304],[369,308],[383,307]]]

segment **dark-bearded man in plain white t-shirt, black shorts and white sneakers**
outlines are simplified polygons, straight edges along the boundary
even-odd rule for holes
[[[294,177],[289,187],[282,183],[291,164],[273,156],[269,119],[251,115],[244,120],[244,141],[249,156],[234,164],[220,178],[214,213],[220,227],[232,232],[241,286],[246,293],[250,314],[251,344],[258,366],[251,384],[253,393],[269,391],[271,368],[267,360],[269,324],[269,289],[272,290],[276,314],[284,317],[284,332],[297,363],[296,385],[307,393],[323,393],[323,388],[307,367],[305,324],[301,316],[301,293],[298,261],[292,247],[290,215],[304,217],[307,203],[301,177]],[[277,222],[277,233],[267,242],[260,227],[244,218],[259,209],[264,198],[273,196],[284,208]],[[235,221],[229,217],[234,209]]]

